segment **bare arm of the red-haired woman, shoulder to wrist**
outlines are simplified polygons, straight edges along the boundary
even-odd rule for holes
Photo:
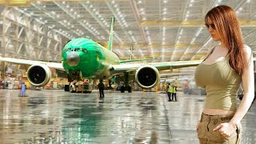
[[[230,120],[230,123],[234,124],[235,126],[241,122],[254,100],[254,60],[249,46],[245,46],[245,58],[246,62],[248,62],[248,66],[244,68],[242,74],[244,95],[240,105],[238,106],[238,110],[234,114],[234,117]]]

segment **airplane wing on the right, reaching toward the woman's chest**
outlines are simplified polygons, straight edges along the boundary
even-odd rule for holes
[[[112,65],[114,71],[133,71],[137,70],[141,66],[154,66],[158,70],[170,70],[189,66],[198,66],[202,60],[195,61],[178,61],[178,62],[152,62],[152,63],[139,63],[139,64],[122,64]]]

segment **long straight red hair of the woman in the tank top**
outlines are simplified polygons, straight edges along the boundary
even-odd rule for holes
[[[238,74],[242,74],[246,66],[245,50],[242,44],[241,27],[234,10],[230,6],[216,6],[206,14],[206,22],[207,18],[214,22],[223,45],[228,49],[230,66]]]

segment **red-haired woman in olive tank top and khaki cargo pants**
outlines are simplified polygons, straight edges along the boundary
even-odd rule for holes
[[[207,58],[197,67],[194,78],[206,89],[206,102],[198,123],[200,143],[240,143],[241,120],[254,99],[252,51],[242,44],[238,18],[230,6],[216,6],[205,17],[214,41]],[[244,97],[237,106],[242,82]]]

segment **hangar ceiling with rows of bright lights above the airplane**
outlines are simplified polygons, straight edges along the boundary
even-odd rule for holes
[[[217,45],[204,26],[214,6],[234,8],[244,43],[256,51],[254,0],[90,0],[26,1],[12,7],[66,38],[91,38],[105,45],[113,14],[113,50],[121,59],[154,58],[153,62],[202,59]]]

